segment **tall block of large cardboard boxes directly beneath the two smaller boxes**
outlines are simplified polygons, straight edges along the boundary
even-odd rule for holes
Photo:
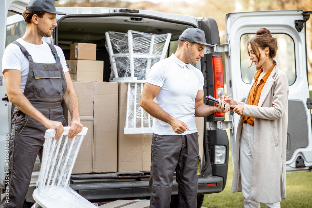
[[[72,173],[117,171],[118,83],[73,81],[80,122],[88,127]],[[71,120],[66,103],[65,119]]]

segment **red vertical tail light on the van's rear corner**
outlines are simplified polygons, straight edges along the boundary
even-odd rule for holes
[[[212,68],[214,97],[222,99],[222,95],[224,95],[222,56],[212,56]],[[224,117],[224,113],[215,112],[214,117]]]

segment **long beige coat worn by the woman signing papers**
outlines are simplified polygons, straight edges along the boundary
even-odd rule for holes
[[[251,83],[251,87],[254,80]],[[266,81],[259,104],[245,100],[236,133],[232,193],[241,191],[239,149],[244,115],[255,117],[250,199],[262,203],[286,200],[286,140],[288,119],[288,80],[275,65]],[[238,103],[242,104],[242,103]]]

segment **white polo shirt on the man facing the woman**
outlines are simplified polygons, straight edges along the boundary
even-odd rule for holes
[[[204,86],[204,76],[199,69],[183,63],[172,54],[152,66],[146,82],[161,87],[156,96],[159,107],[190,128],[182,134],[177,134],[170,124],[154,118],[153,133],[185,135],[197,132],[195,98],[198,90],[203,90]]]

